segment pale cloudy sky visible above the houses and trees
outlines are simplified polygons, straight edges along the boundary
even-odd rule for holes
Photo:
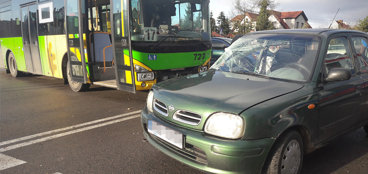
[[[229,16],[233,0],[210,0],[210,10],[217,20],[221,11]],[[355,25],[358,19],[368,15],[368,0],[279,0],[276,11],[304,11],[312,28],[330,25],[337,10],[335,20],[343,20]],[[328,26],[327,26],[328,27]]]

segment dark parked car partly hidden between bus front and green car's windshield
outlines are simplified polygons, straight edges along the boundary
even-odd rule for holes
[[[212,66],[216,60],[225,52],[225,48],[230,46],[232,39],[226,37],[211,37],[212,49],[210,65]]]

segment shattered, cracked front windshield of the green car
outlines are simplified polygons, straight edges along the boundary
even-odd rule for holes
[[[320,38],[298,34],[253,34],[239,38],[211,69],[306,82]]]

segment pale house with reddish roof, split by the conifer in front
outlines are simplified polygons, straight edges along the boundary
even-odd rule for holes
[[[308,24],[308,18],[304,11],[288,11],[279,12],[274,10],[269,10],[270,16],[269,20],[274,24],[276,29],[294,29],[302,28],[304,25]],[[252,30],[256,31],[255,26],[257,25],[258,14],[246,12],[244,15],[237,15],[230,20],[231,26],[233,27],[231,31],[237,32],[234,28],[235,21],[239,20],[243,24],[247,19],[252,22]],[[308,28],[312,28],[308,24]]]

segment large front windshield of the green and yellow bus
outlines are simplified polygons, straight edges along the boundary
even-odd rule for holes
[[[131,0],[132,43],[210,41],[207,0]]]

